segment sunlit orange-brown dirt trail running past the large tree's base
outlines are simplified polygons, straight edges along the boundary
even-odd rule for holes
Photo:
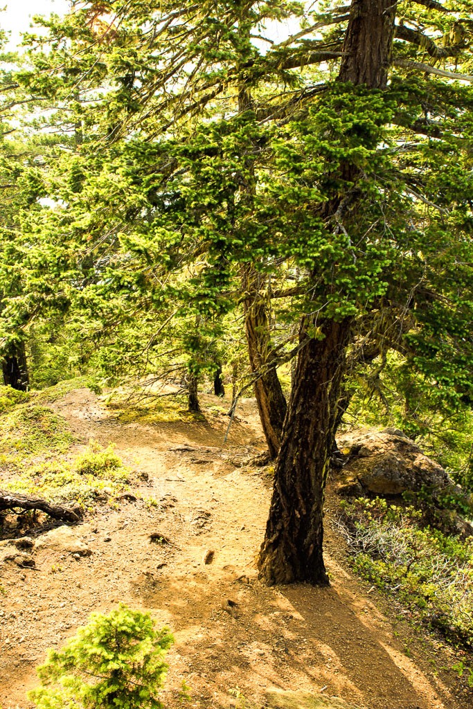
[[[271,688],[323,692],[369,709],[471,707],[471,696],[441,679],[440,666],[449,661],[443,651],[435,654],[427,641],[419,651],[421,641],[409,640],[416,649],[415,659],[408,657],[408,630],[386,618],[377,594],[368,595],[346,571],[335,534],[327,535],[330,588],[266,588],[257,581],[270,480],[234,464],[262,445],[252,401],[240,408],[225,448],[222,416],[211,423],[123,424],[84,389],[55,408],[79,439],[113,442],[126,464],[148,474],[140,492],[157,504],[124,502],[75,527],[90,557],[44,550],[37,569],[5,567],[2,709],[29,707],[25,693],[46,649],[60,647],[92,610],[108,611],[118,601],[150,610],[174,631],[163,693],[169,707],[179,706],[182,679],[196,708],[262,707]],[[150,542],[152,532],[173,545]]]

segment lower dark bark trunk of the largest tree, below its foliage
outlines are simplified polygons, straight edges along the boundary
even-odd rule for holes
[[[332,451],[350,320],[326,320],[323,340],[301,348],[275,472],[260,576],[268,584],[327,584],[323,491]],[[306,328],[301,325],[301,343]]]

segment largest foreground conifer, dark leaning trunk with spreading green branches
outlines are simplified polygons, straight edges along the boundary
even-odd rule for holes
[[[173,296],[207,322],[243,303],[255,381],[297,357],[260,554],[269,583],[328,581],[323,495],[347,358],[367,342],[369,357],[397,347],[433,386],[471,392],[473,77],[458,71],[471,25],[456,14],[469,7],[333,3],[274,43],[265,23],[300,4],[131,2],[97,29],[113,4],[87,3],[50,22],[53,57],[32,55],[52,69],[28,75],[35,91],[106,87],[106,109],[98,93],[81,108],[84,125],[108,174],[124,174],[113,151],[140,164],[125,171],[142,201],[110,272],[167,269]],[[77,213],[91,209],[84,196],[67,197]],[[274,303],[286,325],[275,346]]]

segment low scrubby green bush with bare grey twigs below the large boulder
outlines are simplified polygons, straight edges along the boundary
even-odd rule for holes
[[[473,647],[473,538],[423,526],[413,506],[359,498],[343,505],[338,528],[365,579],[454,643]]]

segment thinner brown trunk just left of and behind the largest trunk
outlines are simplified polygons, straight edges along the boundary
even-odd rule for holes
[[[248,357],[255,381],[255,397],[269,455],[277,457],[281,445],[282,427],[286,415],[286,398],[276,367],[272,366],[274,354],[271,347],[268,303],[255,292],[252,301],[245,302],[245,330]]]

